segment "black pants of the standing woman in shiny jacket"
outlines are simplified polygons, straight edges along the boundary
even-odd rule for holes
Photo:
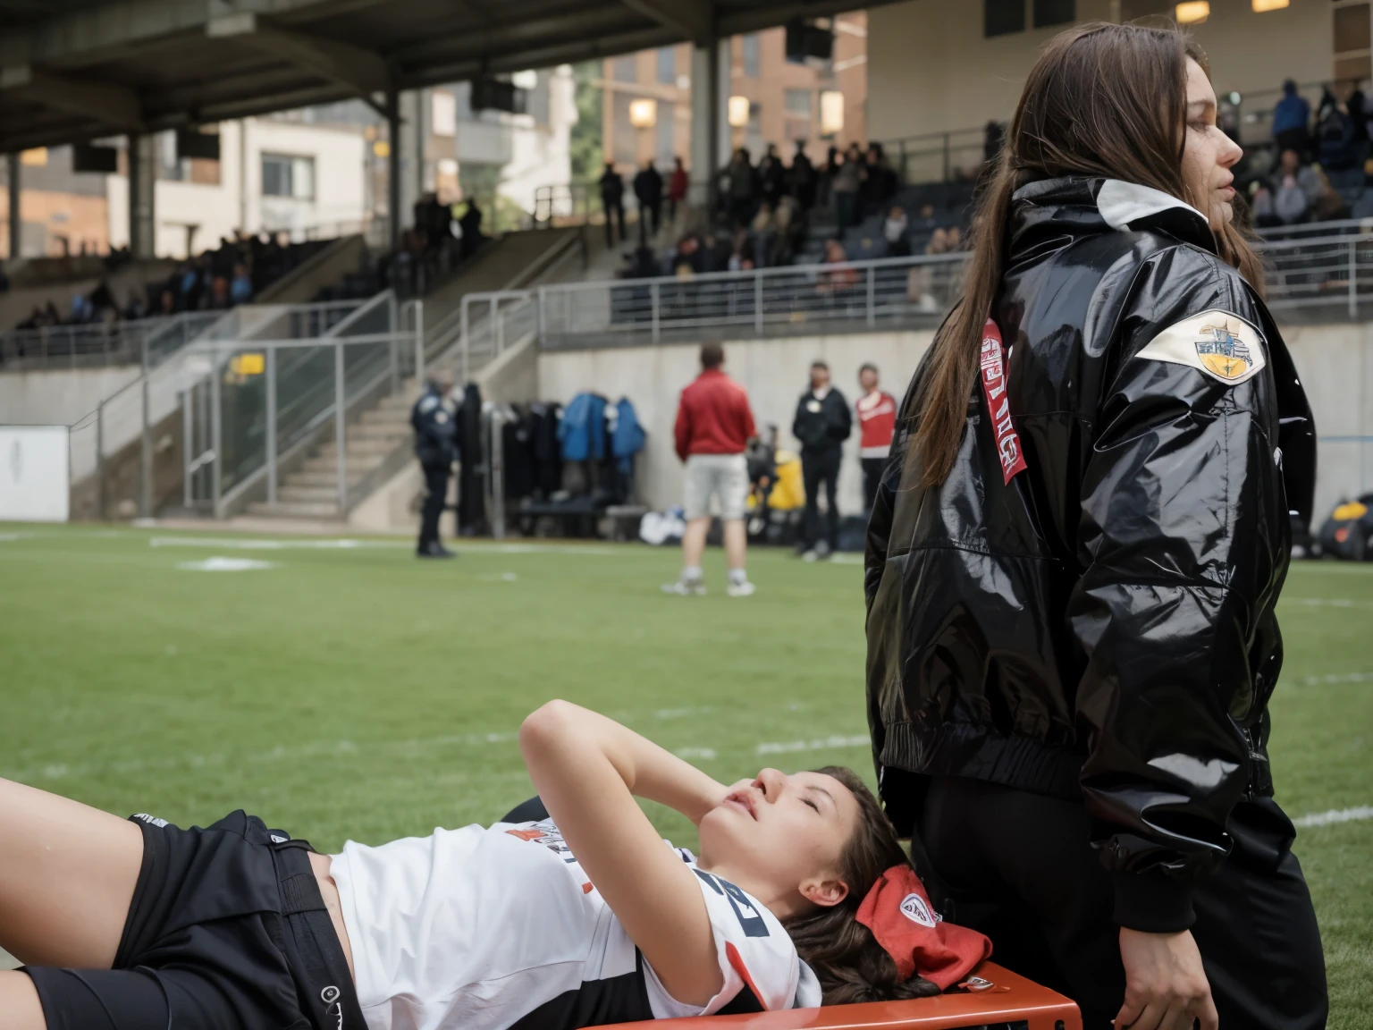
[[[1318,1030],[1328,1000],[1321,935],[1295,829],[1271,798],[1240,802],[1234,849],[1197,884],[1192,927],[1222,1027]],[[1109,873],[1078,802],[941,777],[921,835],[953,894],[954,919],[991,938],[994,957],[1053,987],[1105,1030],[1124,998]]]

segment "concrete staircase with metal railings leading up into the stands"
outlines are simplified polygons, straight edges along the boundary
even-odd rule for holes
[[[540,279],[527,272],[540,268],[551,251],[568,246],[568,233],[577,229],[540,229],[512,232],[494,240],[474,264],[459,269],[452,279],[424,297],[424,321],[441,325],[459,309],[470,293],[522,288]],[[566,275],[581,272],[581,262],[564,262]],[[562,275],[541,282],[557,282]],[[441,350],[427,360],[443,363]],[[471,368],[470,372],[475,372]],[[411,408],[419,397],[420,385],[408,379],[400,389],[382,397],[361,413],[350,416],[345,428],[343,453],[347,478],[349,507],[358,503],[371,489],[400,471],[411,460]],[[259,518],[286,519],[342,519],[347,511],[339,507],[338,449],[332,430],[321,435],[305,460],[286,471],[277,488],[277,503],[255,501],[247,514]]]

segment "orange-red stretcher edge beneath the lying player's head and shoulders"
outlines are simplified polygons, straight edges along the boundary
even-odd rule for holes
[[[791,1008],[747,1016],[696,1016],[625,1023],[619,1030],[958,1030],[984,1023],[1026,1022],[1030,1030],[1082,1030],[1078,1007],[1034,981],[982,963],[973,976],[991,986],[960,994],[866,1005]]]

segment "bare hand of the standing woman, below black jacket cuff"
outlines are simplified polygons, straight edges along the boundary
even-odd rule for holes
[[[1124,1004],[1116,1030],[1216,1030],[1221,1020],[1190,931],[1146,934],[1120,927]]]

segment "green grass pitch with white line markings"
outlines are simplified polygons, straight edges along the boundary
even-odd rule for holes
[[[244,808],[316,847],[490,821],[531,788],[520,718],[562,696],[730,781],[872,775],[861,570],[754,553],[757,596],[666,597],[670,549],[0,527],[0,776],[181,825]],[[209,558],[268,569],[183,569]],[[1373,566],[1297,564],[1273,699],[1293,817],[1373,805]],[[693,843],[689,824],[654,812]],[[1366,814],[1366,813],[1365,813]],[[1373,1027],[1373,820],[1296,851],[1332,1027]]]

